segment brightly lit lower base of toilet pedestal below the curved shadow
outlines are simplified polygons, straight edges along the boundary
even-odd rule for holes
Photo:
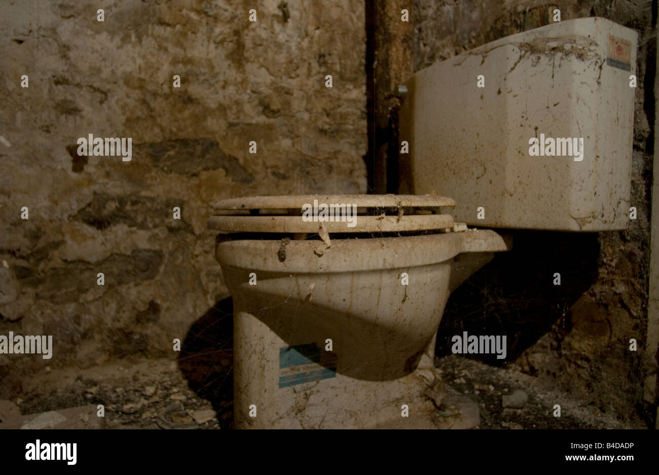
[[[288,351],[289,348],[252,314],[235,313],[237,428],[472,428],[478,425],[478,405],[442,384],[429,352],[407,376],[393,381],[365,381],[332,370],[331,360],[324,361],[321,357],[320,362],[312,362]],[[434,340],[429,348],[434,350]]]

